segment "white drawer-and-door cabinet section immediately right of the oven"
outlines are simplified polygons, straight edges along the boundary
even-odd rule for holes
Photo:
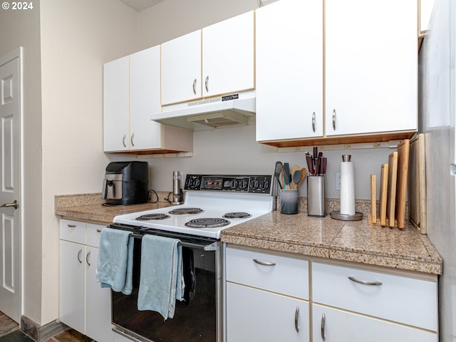
[[[227,248],[227,341],[310,341],[309,262]]]

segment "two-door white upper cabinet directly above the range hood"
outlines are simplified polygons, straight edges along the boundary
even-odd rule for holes
[[[254,88],[254,11],[162,43],[162,105]]]

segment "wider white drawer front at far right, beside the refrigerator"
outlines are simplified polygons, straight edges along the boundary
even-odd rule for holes
[[[435,281],[314,263],[312,295],[314,303],[437,331]]]

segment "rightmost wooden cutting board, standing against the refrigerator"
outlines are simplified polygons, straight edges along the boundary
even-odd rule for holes
[[[408,172],[408,214],[410,222],[421,234],[426,234],[426,164],[425,135],[410,140]]]

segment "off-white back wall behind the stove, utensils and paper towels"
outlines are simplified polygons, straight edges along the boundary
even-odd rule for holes
[[[193,135],[193,157],[148,158],[152,170],[151,186],[154,190],[172,190],[172,171],[214,174],[266,174],[274,173],[277,160],[306,167],[304,152],[277,152],[276,147],[261,145],[255,141],[255,127],[204,130]],[[311,152],[312,147],[309,147]],[[395,150],[395,149],[394,149]],[[326,197],[339,198],[335,190],[334,173],[340,171],[343,154],[351,154],[355,164],[356,198],[371,199],[371,174],[380,181],[380,166],[388,162],[392,150],[338,150],[323,151],[328,157]],[[126,159],[126,158],[124,158]],[[306,167],[307,168],[307,167]],[[300,195],[306,197],[306,182]]]

